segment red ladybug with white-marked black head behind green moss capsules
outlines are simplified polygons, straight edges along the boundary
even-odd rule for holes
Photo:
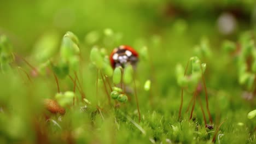
[[[126,64],[135,67],[138,62],[138,52],[131,46],[121,45],[110,53],[109,60],[113,69],[119,66],[124,68]]]

